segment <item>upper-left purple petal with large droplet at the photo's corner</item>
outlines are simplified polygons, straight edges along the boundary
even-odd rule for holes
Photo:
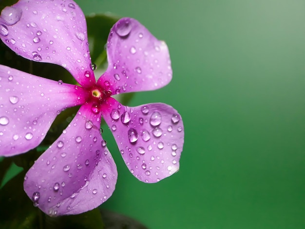
[[[63,66],[82,86],[95,82],[86,19],[73,0],[19,0],[5,7],[0,38],[22,57]]]

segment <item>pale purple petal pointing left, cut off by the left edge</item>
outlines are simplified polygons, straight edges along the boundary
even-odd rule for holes
[[[56,116],[86,96],[81,87],[0,65],[0,155],[37,147]]]

